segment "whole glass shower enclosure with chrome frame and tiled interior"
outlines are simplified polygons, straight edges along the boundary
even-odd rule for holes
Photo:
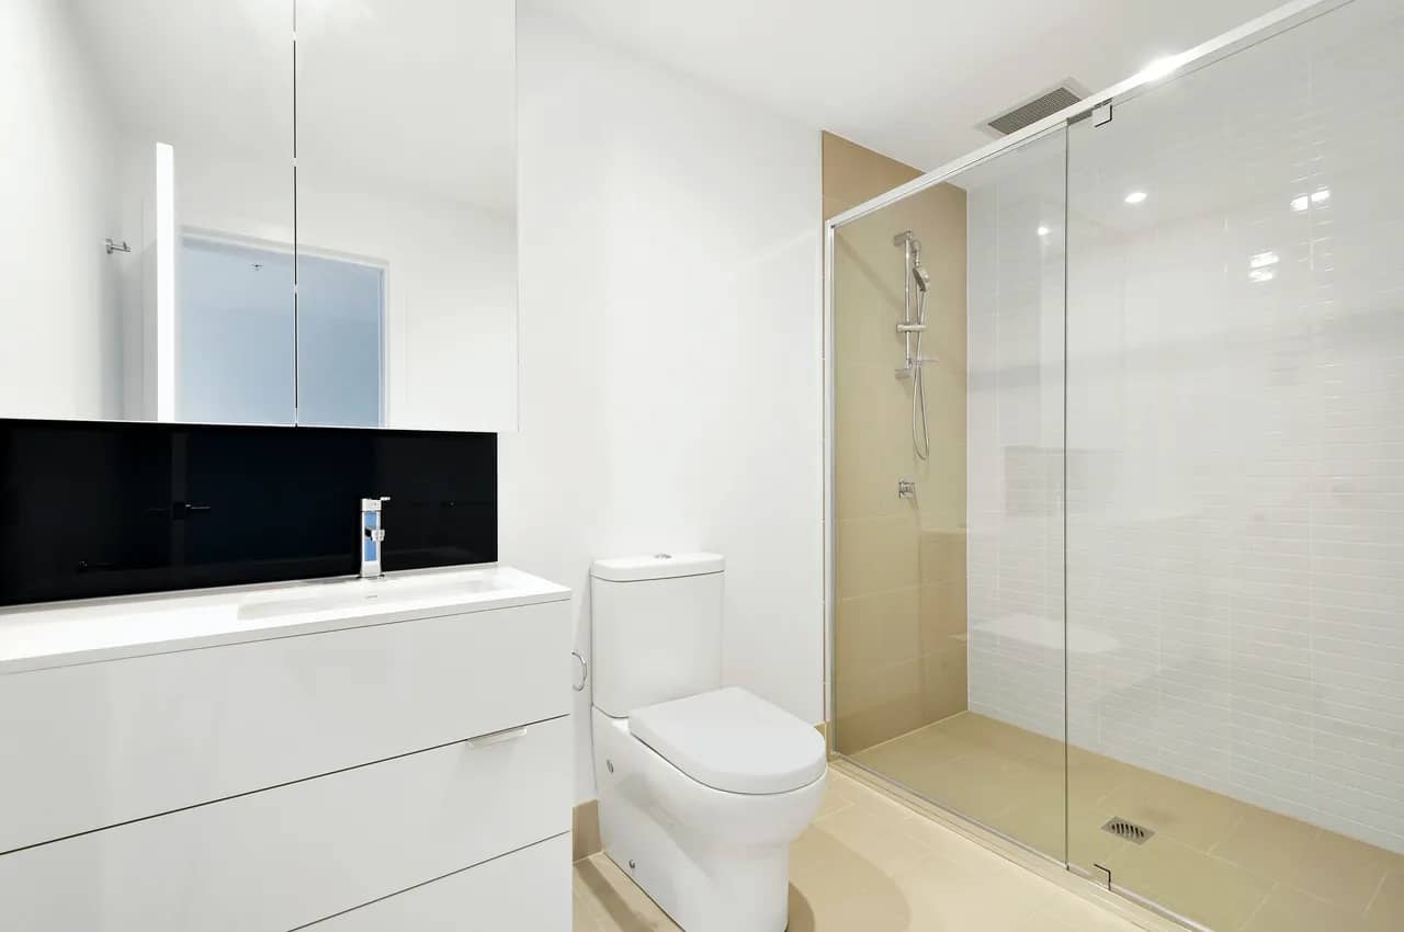
[[[1290,4],[828,222],[840,757],[1193,928],[1404,929],[1401,49]]]

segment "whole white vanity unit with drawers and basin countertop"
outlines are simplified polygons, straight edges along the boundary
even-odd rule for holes
[[[570,591],[0,612],[0,929],[567,932]]]

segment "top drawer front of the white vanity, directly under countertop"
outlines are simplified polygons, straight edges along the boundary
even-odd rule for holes
[[[546,602],[0,675],[0,852],[566,714],[570,640]]]

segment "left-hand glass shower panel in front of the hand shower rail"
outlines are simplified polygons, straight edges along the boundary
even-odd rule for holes
[[[1059,862],[1064,166],[837,227],[831,359],[834,747]]]

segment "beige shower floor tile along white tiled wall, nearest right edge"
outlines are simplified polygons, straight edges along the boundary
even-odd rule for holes
[[[1286,816],[1257,807],[1244,810],[1244,817],[1214,848],[1216,856],[1348,910],[1365,910],[1394,858],[1373,845]]]

